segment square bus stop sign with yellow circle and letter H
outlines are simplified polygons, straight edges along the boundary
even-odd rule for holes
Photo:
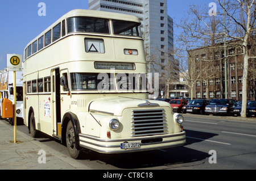
[[[22,55],[7,54],[7,68],[10,71],[22,71]]]

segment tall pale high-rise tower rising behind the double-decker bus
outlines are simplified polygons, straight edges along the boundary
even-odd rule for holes
[[[148,62],[158,64],[148,67],[150,72],[163,73],[173,56],[173,21],[167,14],[167,0],[88,0],[90,10],[110,11],[135,15],[142,23],[141,29]]]

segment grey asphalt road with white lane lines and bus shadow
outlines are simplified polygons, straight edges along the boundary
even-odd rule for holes
[[[85,153],[78,162],[97,170],[121,169],[256,169],[256,119],[238,121],[233,117],[184,115],[187,144],[181,147],[141,153]],[[25,125],[19,131],[27,133]],[[43,136],[36,140],[68,155],[59,141]]]

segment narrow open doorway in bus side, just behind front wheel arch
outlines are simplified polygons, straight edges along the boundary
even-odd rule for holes
[[[60,69],[52,69],[51,71],[52,89],[51,89],[51,104],[52,104],[52,127],[53,135],[60,135],[58,133],[58,124],[61,123],[61,105],[60,105]]]

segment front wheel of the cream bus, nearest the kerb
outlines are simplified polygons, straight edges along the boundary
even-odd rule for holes
[[[71,123],[71,121],[69,121],[67,125],[66,143],[69,155],[74,159],[78,159],[82,151],[76,149],[75,130],[73,128],[73,124]]]

